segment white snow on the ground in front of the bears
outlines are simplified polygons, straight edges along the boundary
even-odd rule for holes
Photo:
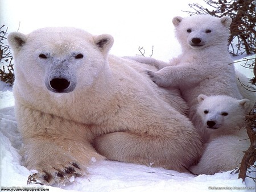
[[[42,187],[39,184],[27,185],[27,178],[35,170],[22,165],[19,154],[22,139],[14,116],[14,97],[11,87],[0,82],[0,154],[1,186],[3,187]],[[251,173],[253,176],[253,173]],[[255,177],[255,176],[253,176]],[[71,177],[70,185],[61,188],[43,186],[49,191],[209,191],[209,187],[226,187],[229,191],[255,191],[255,182],[246,178],[238,179],[232,172],[216,173],[213,176],[193,176],[163,168],[116,161],[98,162],[92,158],[88,174],[80,178]],[[227,188],[228,187],[228,188]],[[236,187],[236,188],[234,188]],[[240,188],[242,187],[242,188]],[[245,189],[254,187],[254,190]],[[218,188],[224,189],[224,188]],[[214,190],[213,190],[214,191]]]

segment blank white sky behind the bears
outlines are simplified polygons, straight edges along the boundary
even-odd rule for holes
[[[140,54],[168,61],[180,53],[174,35],[172,18],[188,16],[188,3],[203,0],[0,0],[0,24],[9,32],[24,34],[41,27],[78,27],[93,35],[110,34],[114,37],[111,53],[117,56]]]

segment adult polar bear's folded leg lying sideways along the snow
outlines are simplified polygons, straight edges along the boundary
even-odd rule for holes
[[[187,168],[201,155],[200,139],[192,143],[185,139],[130,132],[113,132],[97,137],[94,147],[109,160],[161,166],[178,172],[187,172]]]

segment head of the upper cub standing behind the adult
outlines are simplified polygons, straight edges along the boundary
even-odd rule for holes
[[[196,50],[213,45],[226,46],[231,22],[228,16],[216,18],[211,15],[175,16],[172,19],[181,47]]]

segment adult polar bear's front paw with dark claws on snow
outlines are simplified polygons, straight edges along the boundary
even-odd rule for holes
[[[85,170],[76,162],[68,162],[65,165],[42,165],[36,168],[38,173],[28,176],[27,185],[36,183],[40,185],[63,186],[71,183],[75,177],[81,177]]]

